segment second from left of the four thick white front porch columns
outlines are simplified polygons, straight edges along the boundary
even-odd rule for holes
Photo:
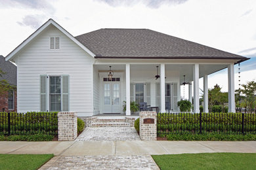
[[[161,64],[160,68],[161,112],[165,112],[165,64]]]

